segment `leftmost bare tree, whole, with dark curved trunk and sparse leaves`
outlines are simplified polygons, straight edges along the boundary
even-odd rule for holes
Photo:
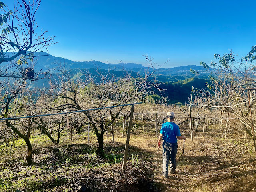
[[[16,98],[24,98],[28,93],[26,87],[31,81],[45,78],[46,73],[34,71],[34,52],[46,49],[54,44],[53,36],[45,36],[36,24],[36,12],[41,0],[14,0],[13,10],[0,2],[0,116],[8,118],[15,115]],[[14,108],[10,108],[14,106]],[[20,108],[20,106],[16,106]],[[29,140],[32,119],[28,121],[27,132],[23,134],[12,121],[5,120],[6,125],[20,136],[27,144],[26,160],[32,163],[32,146]]]

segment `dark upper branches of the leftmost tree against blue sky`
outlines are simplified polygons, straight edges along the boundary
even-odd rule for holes
[[[34,52],[54,44],[53,36],[45,36],[36,24],[36,12],[41,0],[14,0],[14,10],[0,2],[0,63],[10,62],[21,55],[33,56]],[[2,74],[3,75],[3,74]]]

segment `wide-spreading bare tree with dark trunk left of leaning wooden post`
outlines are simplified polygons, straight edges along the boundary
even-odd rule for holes
[[[149,66],[152,67],[152,61]],[[44,92],[49,101],[54,101],[49,110],[86,110],[125,105],[141,101],[151,92],[151,86],[158,87],[154,79],[154,67],[140,72],[123,70],[101,70],[99,68],[80,71],[80,75],[73,76],[70,71],[60,69],[58,79],[50,79],[50,88]],[[118,73],[118,75],[116,75]],[[44,108],[52,102],[46,102]],[[112,109],[113,117],[109,119],[111,108],[84,111],[89,123],[94,128],[98,140],[98,154],[103,154],[103,136],[116,120],[124,106]]]

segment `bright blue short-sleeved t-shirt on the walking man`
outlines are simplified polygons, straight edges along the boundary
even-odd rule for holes
[[[176,143],[177,137],[180,136],[180,128],[175,123],[166,122],[162,124],[160,133],[164,135],[163,140],[168,143]]]

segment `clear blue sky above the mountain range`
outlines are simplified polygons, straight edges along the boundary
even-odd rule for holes
[[[9,1],[9,0],[8,0]],[[59,42],[50,54],[74,61],[199,65],[214,54],[245,56],[256,45],[255,0],[42,0],[40,28]]]

